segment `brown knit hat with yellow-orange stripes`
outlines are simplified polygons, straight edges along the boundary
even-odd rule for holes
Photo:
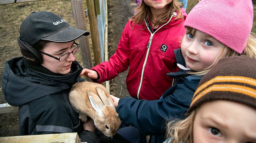
[[[239,102],[256,109],[256,59],[245,55],[221,59],[199,82],[187,116],[212,100]]]

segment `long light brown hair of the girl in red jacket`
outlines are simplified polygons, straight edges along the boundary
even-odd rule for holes
[[[176,16],[176,19],[182,18],[182,8],[183,4],[181,2],[178,2],[177,0],[173,0],[167,5],[166,12],[162,15],[158,15],[158,18],[156,21],[151,19],[151,22],[155,25],[162,25],[172,16],[173,12],[178,11],[178,15]],[[148,20],[150,17],[152,17],[150,10],[150,6],[148,6],[143,0],[141,1],[141,4],[135,8],[135,15],[130,19],[131,21],[134,21],[134,25],[144,22],[144,19]],[[145,27],[146,28],[146,27]]]

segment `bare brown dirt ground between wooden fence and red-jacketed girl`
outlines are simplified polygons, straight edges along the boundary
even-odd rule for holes
[[[137,4],[134,0],[108,0],[108,56],[112,56],[119,43],[121,33],[134,14]],[[110,81],[110,94],[123,98],[129,96],[126,87],[126,76],[128,70],[120,73]]]

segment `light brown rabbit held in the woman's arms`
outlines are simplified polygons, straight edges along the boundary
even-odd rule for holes
[[[107,137],[117,132],[121,121],[114,101],[103,85],[86,81],[74,84],[69,92],[69,101],[83,122],[87,116],[91,117],[95,126]]]

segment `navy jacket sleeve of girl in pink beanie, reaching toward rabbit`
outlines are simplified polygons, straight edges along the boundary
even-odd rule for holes
[[[193,97],[193,94],[187,98],[178,93],[152,101],[123,98],[119,100],[116,110],[121,120],[145,135],[165,135],[166,121],[185,118]]]

